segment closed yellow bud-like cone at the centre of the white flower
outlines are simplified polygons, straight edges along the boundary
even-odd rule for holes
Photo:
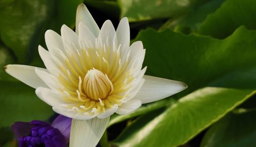
[[[91,100],[99,101],[113,92],[113,84],[106,74],[91,69],[83,79],[83,90]]]

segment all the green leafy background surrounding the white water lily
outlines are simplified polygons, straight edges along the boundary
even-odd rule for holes
[[[112,146],[256,146],[255,0],[0,0],[0,146],[16,146],[12,123],[50,121],[50,106],[4,71],[8,64],[44,67],[44,33],[74,29],[86,4],[99,26],[128,17],[141,40],[147,75],[180,80],[188,89],[133,113],[113,115]],[[106,139],[106,138],[104,138]],[[101,140],[105,142],[106,140]]]

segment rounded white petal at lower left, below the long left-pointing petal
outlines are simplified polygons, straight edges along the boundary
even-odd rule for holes
[[[61,94],[45,87],[38,87],[35,90],[35,93],[42,101],[46,102],[50,106],[66,103],[62,100]]]

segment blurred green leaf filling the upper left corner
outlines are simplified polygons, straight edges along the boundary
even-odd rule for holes
[[[0,2],[0,33],[4,43],[13,50],[18,62],[28,64],[39,58],[37,46],[44,45],[48,29],[57,32],[62,24],[74,26],[76,1],[3,1]]]

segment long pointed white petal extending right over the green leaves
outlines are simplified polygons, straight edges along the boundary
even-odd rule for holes
[[[134,99],[141,100],[142,104],[161,100],[187,88],[187,85],[180,81],[148,75],[144,75],[143,78],[145,82],[134,97]]]

